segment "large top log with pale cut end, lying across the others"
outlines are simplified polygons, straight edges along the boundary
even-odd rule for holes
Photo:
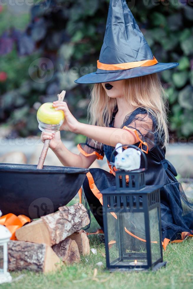
[[[74,232],[89,224],[86,209],[80,203],[63,206],[56,213],[41,217],[37,221],[23,226],[16,231],[17,240],[55,245]]]

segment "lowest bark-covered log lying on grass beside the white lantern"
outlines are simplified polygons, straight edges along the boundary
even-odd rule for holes
[[[51,272],[59,269],[63,263],[53,249],[46,244],[23,241],[9,241],[8,269]]]

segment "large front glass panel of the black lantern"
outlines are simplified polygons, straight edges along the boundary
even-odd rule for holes
[[[108,212],[107,226],[110,265],[128,266],[135,260],[147,265],[143,212]]]

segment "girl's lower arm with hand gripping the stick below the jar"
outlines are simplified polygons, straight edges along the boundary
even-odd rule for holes
[[[41,141],[45,142],[45,139],[51,139],[50,148],[64,166],[89,168],[96,160],[96,155],[86,157],[81,153],[76,155],[68,150],[60,139],[60,132],[56,132],[55,134],[42,132]]]

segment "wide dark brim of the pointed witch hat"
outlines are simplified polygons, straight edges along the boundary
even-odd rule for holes
[[[96,72],[89,73],[86,75],[81,76],[80,78],[76,79],[74,82],[82,83],[82,84],[89,84],[89,83],[103,83],[103,82],[110,82],[110,81],[118,81],[128,78],[134,78],[138,76],[148,75],[156,72],[161,72],[167,69],[174,68],[178,66],[179,63],[172,62],[172,63],[157,63],[152,66],[141,66],[136,68],[131,68],[127,70],[100,70],[97,69]]]

